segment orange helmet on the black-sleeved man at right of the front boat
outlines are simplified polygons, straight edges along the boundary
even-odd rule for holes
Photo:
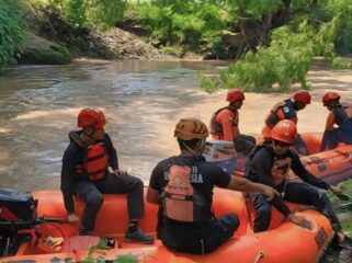
[[[280,121],[271,130],[274,140],[293,144],[297,135],[296,124],[289,119]]]

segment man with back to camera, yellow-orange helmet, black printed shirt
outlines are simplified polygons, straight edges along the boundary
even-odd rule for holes
[[[202,153],[207,136],[207,127],[200,119],[180,119],[174,129],[180,156],[159,162],[151,173],[147,201],[159,205],[158,238],[174,251],[196,254],[214,251],[238,228],[239,219],[235,214],[215,218],[212,211],[215,185],[259,192],[268,201],[279,194],[272,187],[231,176],[205,161]]]

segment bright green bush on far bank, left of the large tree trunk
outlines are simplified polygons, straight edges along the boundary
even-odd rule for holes
[[[132,5],[154,42],[212,50],[227,28],[228,14],[212,1],[151,1]]]

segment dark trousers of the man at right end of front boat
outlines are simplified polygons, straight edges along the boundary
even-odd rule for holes
[[[336,231],[341,231],[340,221],[325,191],[306,183],[287,183],[284,199],[302,205],[315,206],[329,218]],[[271,205],[262,194],[254,194],[252,201],[257,211],[253,230],[254,232],[264,231],[270,225]]]

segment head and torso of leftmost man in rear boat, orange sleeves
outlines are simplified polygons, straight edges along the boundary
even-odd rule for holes
[[[226,100],[228,106],[217,110],[211,119],[211,134],[214,139],[234,141],[240,134],[238,110],[245,101],[245,93],[240,90],[230,90]]]

